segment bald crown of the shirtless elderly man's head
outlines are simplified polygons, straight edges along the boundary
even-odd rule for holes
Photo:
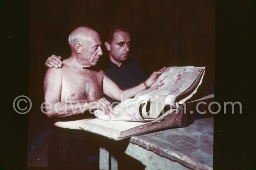
[[[86,26],[80,26],[70,33],[68,37],[68,44],[72,49],[75,44],[85,43],[87,40],[92,39],[95,36],[99,37],[99,34],[96,31]]]

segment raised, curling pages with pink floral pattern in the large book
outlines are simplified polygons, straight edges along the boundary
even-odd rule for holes
[[[113,108],[115,114],[105,115],[103,111],[96,110],[94,115],[101,120],[139,122],[155,120],[178,106],[179,101],[175,101],[178,96],[188,93],[182,103],[189,99],[202,83],[204,72],[205,67],[168,67],[149,89],[116,105]],[[194,91],[191,92],[193,89]]]

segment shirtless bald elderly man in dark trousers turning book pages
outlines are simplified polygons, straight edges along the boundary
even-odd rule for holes
[[[96,66],[102,55],[101,39],[96,31],[78,27],[69,35],[68,43],[71,56],[63,60],[62,69],[48,69],[44,79],[45,111],[53,124],[48,166],[50,169],[96,168],[97,146],[89,140],[90,134],[79,129],[90,118],[89,111],[100,109],[113,114],[103,93],[118,101],[121,97],[131,98],[150,87],[165,67],[152,73],[144,83],[121,90]]]

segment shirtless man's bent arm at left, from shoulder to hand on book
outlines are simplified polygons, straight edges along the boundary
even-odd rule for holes
[[[67,117],[89,109],[100,109],[106,114],[114,112],[105,98],[91,102],[66,103],[61,101],[62,69],[48,69],[44,79],[45,111],[47,117]]]

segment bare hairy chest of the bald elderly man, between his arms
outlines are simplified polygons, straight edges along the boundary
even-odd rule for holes
[[[94,71],[69,70],[62,76],[61,101],[85,102],[101,98],[103,76]]]

